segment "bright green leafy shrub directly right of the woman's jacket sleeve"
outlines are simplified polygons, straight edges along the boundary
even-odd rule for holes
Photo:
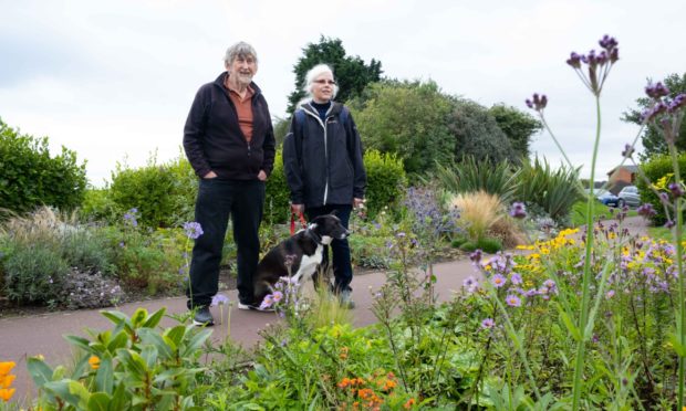
[[[407,187],[403,161],[394,154],[372,149],[364,154],[364,167],[367,172],[365,196],[370,217],[376,215],[384,207],[394,209]]]

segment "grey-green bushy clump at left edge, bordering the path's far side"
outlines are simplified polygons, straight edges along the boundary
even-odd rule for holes
[[[0,231],[4,293],[19,303],[103,306],[121,298],[113,254],[98,230],[79,225],[75,214],[41,208],[8,220]],[[91,284],[86,293],[75,292]],[[103,293],[101,296],[100,294]]]

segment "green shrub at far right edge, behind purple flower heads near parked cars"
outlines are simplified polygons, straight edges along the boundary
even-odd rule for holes
[[[686,154],[679,155],[678,165],[679,170],[684,172],[684,170],[686,170]],[[643,172],[645,173],[645,177],[649,180],[649,183],[659,185],[661,179],[665,178],[664,185],[659,185],[664,186],[659,187],[661,191],[667,191],[667,185],[669,182],[674,182],[674,177],[667,178],[669,175],[674,173],[674,168],[672,167],[672,159],[669,158],[669,156],[655,156],[651,158],[648,162],[643,164],[641,167],[643,169]],[[648,187],[648,182],[640,178],[636,180],[636,187],[638,187],[638,192],[641,193],[641,201],[653,204],[653,208],[657,212],[651,218],[651,222],[654,225],[663,225],[665,222],[667,222],[665,207],[657,198],[657,194]],[[672,218],[674,219],[674,215],[672,215]]]

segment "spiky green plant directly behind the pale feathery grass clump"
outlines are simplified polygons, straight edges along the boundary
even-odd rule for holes
[[[450,166],[436,165],[436,178],[448,192],[484,191],[509,203],[517,190],[518,171],[512,171],[507,160],[493,165],[488,159],[477,160],[472,156],[465,156],[460,162]]]

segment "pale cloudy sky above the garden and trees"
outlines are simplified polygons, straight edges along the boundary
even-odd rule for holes
[[[320,35],[349,54],[382,62],[395,78],[436,81],[444,92],[485,106],[527,109],[533,92],[571,161],[590,175],[595,129],[591,94],[564,61],[571,51],[620,42],[602,99],[596,179],[621,160],[637,127],[620,120],[647,77],[686,71],[684,0],[519,1],[31,1],[0,0],[0,117],[51,147],[87,160],[102,186],[116,162],[142,166],[180,152],[197,88],[222,70],[231,43],[259,54],[256,82],[272,116],[285,116],[292,66]],[[561,156],[548,134],[532,149]]]

